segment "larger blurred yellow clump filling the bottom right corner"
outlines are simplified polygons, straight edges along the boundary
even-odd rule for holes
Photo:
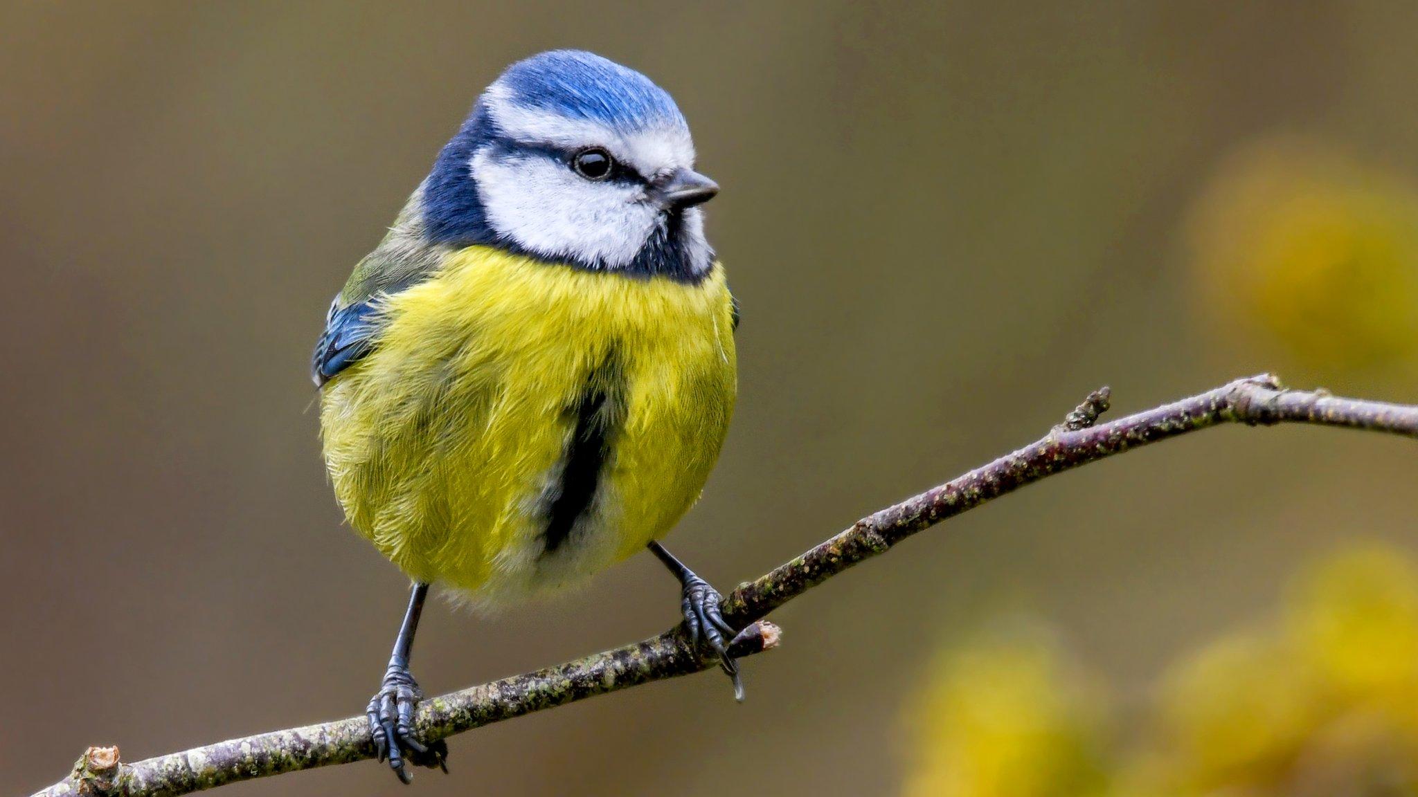
[[[1415,695],[1418,572],[1388,547],[1340,553],[1276,627],[1173,668],[1119,794],[1418,794]]]

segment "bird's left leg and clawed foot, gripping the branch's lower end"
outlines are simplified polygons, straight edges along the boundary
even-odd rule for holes
[[[414,581],[408,591],[408,608],[404,611],[404,623],[398,627],[398,637],[394,640],[394,652],[389,657],[389,668],[384,669],[384,681],[380,684],[369,708],[370,735],[374,737],[374,747],[379,749],[379,760],[389,757],[389,766],[404,783],[413,783],[414,774],[404,766],[414,763],[425,767],[440,767],[448,771],[444,759],[448,756],[448,745],[444,740],[424,745],[414,733],[414,706],[424,693],[418,689],[418,682],[408,672],[408,655],[414,647],[414,632],[418,631],[418,615],[424,611],[424,598],[428,597],[428,584]]]

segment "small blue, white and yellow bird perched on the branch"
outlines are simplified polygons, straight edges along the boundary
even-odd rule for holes
[[[420,739],[410,654],[430,587],[486,610],[649,550],[692,645],[743,698],[722,596],[661,539],[733,416],[739,305],[705,237],[719,186],[641,72],[554,50],[478,96],[326,313],[312,362],[346,522],[411,580],[366,708],[379,759]]]

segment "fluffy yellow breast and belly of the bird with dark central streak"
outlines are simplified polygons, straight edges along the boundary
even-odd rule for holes
[[[722,267],[685,285],[472,247],[384,313],[374,350],[325,386],[320,424],[350,525],[410,577],[485,603],[562,586],[699,496],[736,394]],[[594,496],[549,546],[593,394],[608,418]]]

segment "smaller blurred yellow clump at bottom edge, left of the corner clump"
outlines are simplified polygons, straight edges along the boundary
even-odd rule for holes
[[[1103,793],[1099,693],[1038,628],[940,654],[908,716],[908,797]]]

